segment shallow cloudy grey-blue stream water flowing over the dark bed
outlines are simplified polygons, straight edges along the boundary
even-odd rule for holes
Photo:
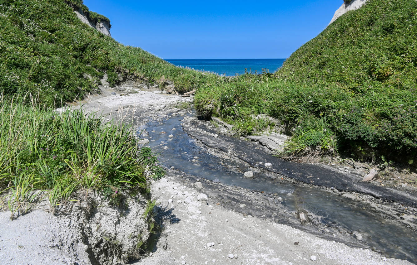
[[[244,178],[242,172],[249,171],[249,168],[207,154],[183,131],[180,125],[182,119],[172,117],[164,120],[163,124],[147,124],[147,138],[155,140],[149,146],[160,153],[158,159],[164,166],[174,166],[185,173],[231,186],[277,193],[276,196],[283,198],[281,203],[287,211],[305,209],[325,225],[360,233],[362,241],[388,258],[417,263],[417,233],[392,220],[390,215],[373,209],[365,202],[338,196],[327,189],[280,183],[264,173],[254,171],[254,178]],[[168,137],[170,134],[174,135],[172,139]],[[168,149],[163,149],[164,146]],[[196,162],[191,161],[194,156],[198,156]]]

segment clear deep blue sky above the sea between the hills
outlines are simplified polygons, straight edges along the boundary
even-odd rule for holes
[[[342,0],[84,0],[111,35],[163,59],[287,58],[329,24]]]

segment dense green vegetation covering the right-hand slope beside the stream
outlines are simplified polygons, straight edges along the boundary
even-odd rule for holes
[[[417,2],[368,0],[289,57],[274,75],[204,86],[202,116],[251,134],[267,114],[293,135],[287,154],[375,156],[417,165]]]

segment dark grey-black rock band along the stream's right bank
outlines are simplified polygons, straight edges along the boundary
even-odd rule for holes
[[[210,130],[198,122],[193,123],[193,127],[199,127],[203,131],[210,132]],[[186,127],[184,130],[206,146],[226,153],[230,150],[231,154],[251,165],[255,165],[257,162],[271,163],[272,166],[269,168],[266,168],[264,165],[259,165],[259,167],[297,181],[327,188],[334,187],[339,191],[354,191],[388,201],[417,206],[417,194],[404,191],[401,188],[382,187],[372,183],[361,182],[362,176],[352,173],[339,173],[330,166],[285,161],[266,153],[253,142],[224,135],[213,137],[210,134],[203,134],[201,131]],[[213,133],[215,132],[213,131]]]

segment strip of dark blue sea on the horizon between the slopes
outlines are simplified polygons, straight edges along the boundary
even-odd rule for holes
[[[215,72],[220,75],[235,76],[248,72],[262,73],[267,69],[270,73],[275,72],[282,66],[285,59],[166,59],[167,62],[176,66],[190,67],[200,71]]]

